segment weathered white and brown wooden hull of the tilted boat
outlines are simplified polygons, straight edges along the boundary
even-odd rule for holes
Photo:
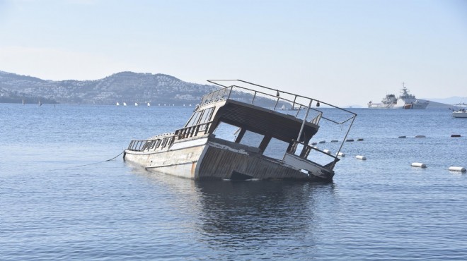
[[[287,156],[294,158],[294,155]],[[304,167],[310,172],[304,173],[282,161],[263,156],[257,148],[216,138],[175,142],[165,152],[126,150],[124,159],[144,166],[148,171],[195,180],[255,178],[330,182],[334,176],[333,171],[322,166],[306,165],[309,162]]]

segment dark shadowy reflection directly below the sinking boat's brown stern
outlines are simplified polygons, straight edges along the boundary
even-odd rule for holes
[[[248,241],[312,232],[319,222],[316,193],[323,188],[333,190],[329,185],[291,181],[202,181],[196,185],[207,236]]]

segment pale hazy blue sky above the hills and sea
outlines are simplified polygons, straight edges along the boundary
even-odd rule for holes
[[[0,0],[0,71],[242,79],[338,105],[467,97],[467,0]]]

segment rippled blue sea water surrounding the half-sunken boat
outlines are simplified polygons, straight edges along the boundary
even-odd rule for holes
[[[330,184],[105,161],[191,111],[0,104],[0,260],[467,260],[467,174],[448,171],[467,167],[467,119],[353,109],[349,138],[364,140],[345,142]]]

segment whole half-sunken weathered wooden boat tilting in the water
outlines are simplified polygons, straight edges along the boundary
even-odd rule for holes
[[[208,82],[221,89],[202,97],[183,128],[132,140],[125,161],[195,180],[333,180],[340,160],[336,155],[357,114],[243,80]],[[318,110],[321,104],[328,108]],[[340,120],[324,116],[323,111],[338,114]],[[344,135],[335,154],[309,145],[323,121],[338,126]]]

